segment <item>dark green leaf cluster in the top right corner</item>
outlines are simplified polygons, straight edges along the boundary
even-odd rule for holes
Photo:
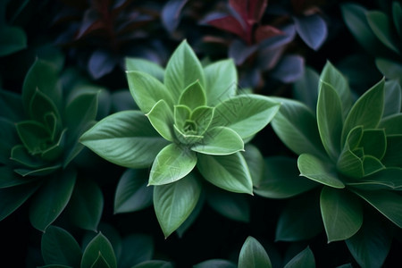
[[[343,4],[348,29],[364,49],[375,57],[379,71],[388,79],[402,80],[402,6],[393,1],[390,13],[367,10],[360,4]]]

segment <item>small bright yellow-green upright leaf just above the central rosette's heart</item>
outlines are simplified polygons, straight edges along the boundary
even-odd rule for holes
[[[179,105],[186,105],[191,111],[199,106],[206,105],[205,91],[198,80],[188,85],[188,87],[181,92]]]

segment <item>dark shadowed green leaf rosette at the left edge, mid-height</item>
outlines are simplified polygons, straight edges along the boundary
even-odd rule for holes
[[[0,220],[29,199],[29,221],[38,230],[46,230],[67,204],[72,223],[96,230],[101,190],[80,178],[71,162],[84,148],[80,135],[96,118],[100,88],[67,91],[58,69],[38,59],[23,81],[21,96],[0,91],[0,199],[6,200]]]

